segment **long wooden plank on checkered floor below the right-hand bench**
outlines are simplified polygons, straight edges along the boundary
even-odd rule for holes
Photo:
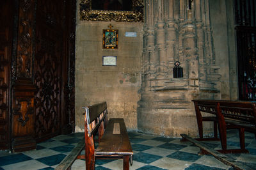
[[[213,155],[215,158],[217,158],[224,164],[234,167],[234,169],[246,169],[246,170],[252,169],[251,167],[246,166],[246,163],[243,164],[242,162],[236,162],[236,160],[234,160],[234,158],[227,157],[227,155],[224,155],[223,153],[220,153],[220,152],[212,149],[211,147],[207,146],[206,144],[204,144],[200,141],[196,141],[195,139],[193,139],[192,137],[189,137],[186,134],[180,134],[180,135],[184,139],[187,139],[189,142],[191,142],[191,143],[195,144],[196,146],[198,146],[199,148],[201,148],[202,150],[207,151],[207,153],[210,153],[211,155]]]

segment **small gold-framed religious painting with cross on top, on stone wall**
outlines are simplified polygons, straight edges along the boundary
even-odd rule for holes
[[[103,49],[118,49],[118,29],[103,29]]]

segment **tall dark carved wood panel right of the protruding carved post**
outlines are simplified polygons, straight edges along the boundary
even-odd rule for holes
[[[38,1],[35,54],[37,141],[61,133],[64,10],[61,1]]]

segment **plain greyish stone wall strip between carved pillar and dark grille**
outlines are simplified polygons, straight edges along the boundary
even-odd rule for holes
[[[238,100],[234,1],[210,1],[212,37],[221,75],[221,99]]]

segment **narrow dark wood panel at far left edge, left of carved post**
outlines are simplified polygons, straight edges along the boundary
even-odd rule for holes
[[[12,2],[0,1],[0,149],[10,148],[10,61],[12,57]]]

